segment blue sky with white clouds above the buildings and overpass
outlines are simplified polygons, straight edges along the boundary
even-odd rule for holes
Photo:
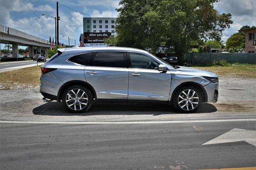
[[[86,14],[98,17],[117,17],[115,11],[119,0],[58,0],[59,2],[59,40],[64,44],[76,45],[83,32],[83,17]],[[56,16],[56,0],[0,0],[0,24],[28,34],[49,39],[55,38],[55,20],[42,14]],[[70,10],[69,8],[75,9]],[[223,40],[235,33],[243,25],[256,25],[256,0],[220,0],[214,4],[220,14],[231,13],[234,23],[223,33]],[[55,41],[55,40],[54,40]],[[1,49],[4,45],[1,44]]]

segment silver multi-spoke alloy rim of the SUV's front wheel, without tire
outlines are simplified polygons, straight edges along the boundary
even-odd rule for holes
[[[183,90],[178,96],[178,104],[181,109],[190,111],[194,109],[199,102],[198,94],[191,89]]]

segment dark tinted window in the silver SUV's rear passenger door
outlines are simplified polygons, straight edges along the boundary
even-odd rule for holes
[[[126,68],[123,52],[97,52],[93,66]]]

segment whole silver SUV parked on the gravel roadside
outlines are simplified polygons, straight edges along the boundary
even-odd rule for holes
[[[58,49],[42,65],[40,92],[72,112],[94,101],[162,102],[193,112],[202,102],[217,102],[218,76],[171,66],[140,49],[82,47]]]

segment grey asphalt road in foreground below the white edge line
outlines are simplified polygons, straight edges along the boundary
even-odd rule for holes
[[[253,117],[255,118],[255,117]],[[210,169],[255,167],[245,141],[202,145],[255,121],[156,124],[1,123],[0,169]]]

